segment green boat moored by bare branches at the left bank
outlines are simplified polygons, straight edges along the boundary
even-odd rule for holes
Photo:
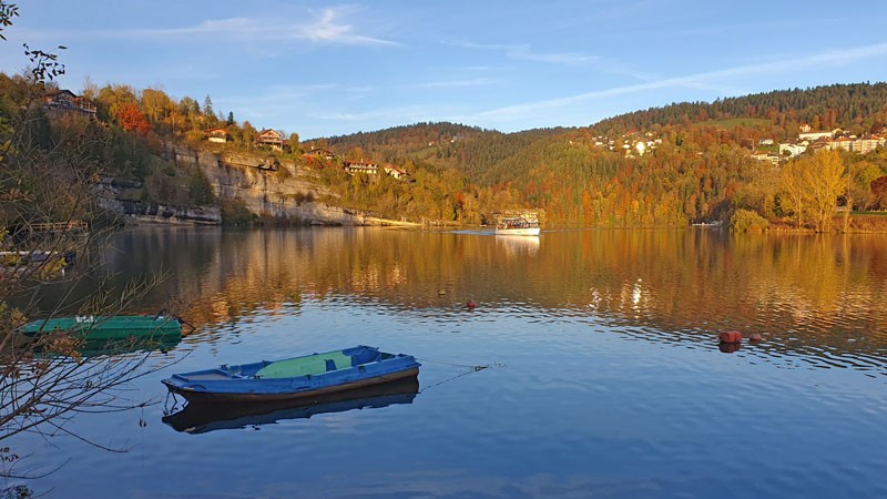
[[[19,333],[31,338],[51,333],[69,333],[88,342],[156,339],[182,336],[182,324],[177,317],[167,315],[79,315],[33,320],[19,327]]]

